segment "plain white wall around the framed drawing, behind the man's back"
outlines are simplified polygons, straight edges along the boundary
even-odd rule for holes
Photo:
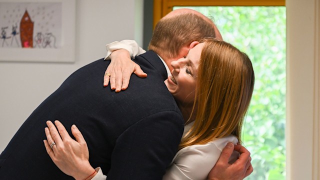
[[[142,45],[142,14],[143,0],[76,0],[74,63],[0,61],[0,152],[70,73],[104,56],[106,43],[135,39]]]

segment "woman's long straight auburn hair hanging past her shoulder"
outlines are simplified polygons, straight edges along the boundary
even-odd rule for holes
[[[195,120],[179,149],[230,134],[241,142],[242,122],[252,96],[254,72],[249,57],[225,41],[203,41],[192,110]]]

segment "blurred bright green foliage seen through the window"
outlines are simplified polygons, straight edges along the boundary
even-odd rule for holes
[[[255,86],[242,137],[254,171],[246,179],[285,179],[285,7],[187,8],[210,17],[223,40],[252,61]]]

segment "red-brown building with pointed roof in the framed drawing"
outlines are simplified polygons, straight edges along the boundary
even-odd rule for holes
[[[25,10],[20,21],[20,39],[22,47],[33,47],[33,22]]]

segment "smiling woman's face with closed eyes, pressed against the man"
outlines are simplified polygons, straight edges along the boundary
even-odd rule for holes
[[[193,103],[202,47],[203,43],[199,43],[189,50],[186,57],[171,62],[172,75],[164,83],[180,103]]]

